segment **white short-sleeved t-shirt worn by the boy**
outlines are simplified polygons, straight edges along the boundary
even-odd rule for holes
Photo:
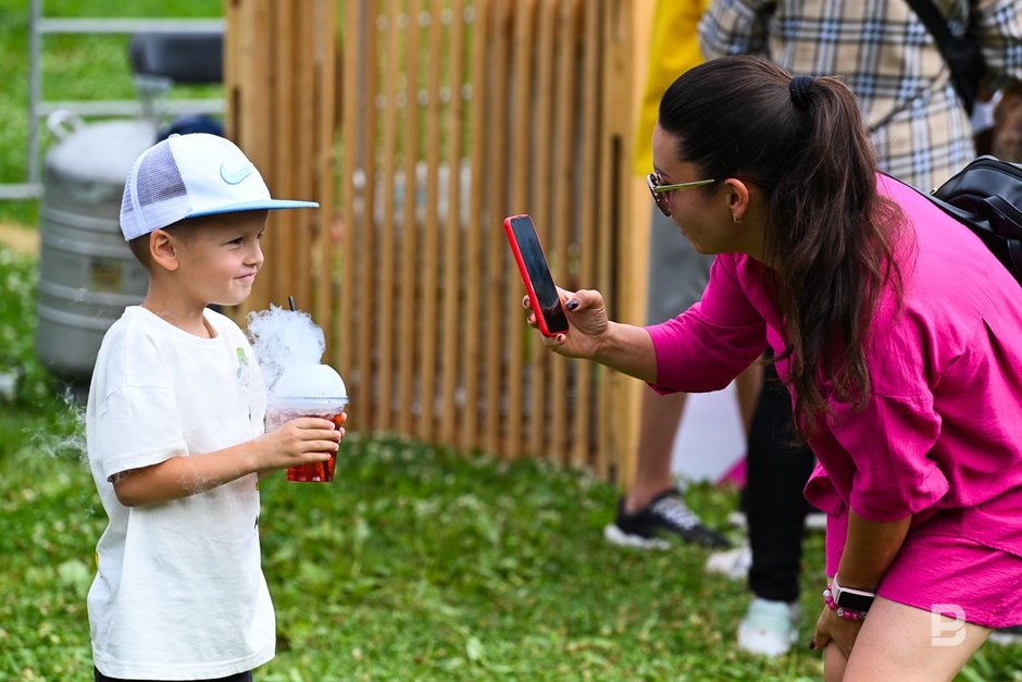
[[[266,388],[248,339],[226,317],[207,310],[205,318],[215,338],[127,308],[96,361],[86,430],[110,523],[97,546],[88,611],[94,661],[108,677],[222,678],[274,656],[257,474],[130,508],[110,482],[264,432]]]

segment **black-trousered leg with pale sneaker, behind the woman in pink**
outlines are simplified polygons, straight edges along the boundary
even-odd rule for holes
[[[798,634],[802,536],[811,509],[802,489],[815,460],[794,439],[792,398],[768,364],[749,427],[744,504],[752,602],[738,627],[738,647],[765,656],[787,653]]]

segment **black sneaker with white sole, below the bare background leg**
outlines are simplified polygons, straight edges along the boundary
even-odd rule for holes
[[[603,537],[615,545],[643,549],[666,549],[665,537],[714,549],[731,547],[723,535],[708,529],[682,500],[677,488],[655,497],[635,513],[625,513],[624,498],[618,504],[618,518],[603,529]]]

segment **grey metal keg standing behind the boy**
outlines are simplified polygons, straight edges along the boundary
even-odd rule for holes
[[[157,138],[146,120],[85,124],[54,112],[39,211],[36,354],[51,371],[87,381],[110,325],[146,296],[145,268],[119,223],[124,181]]]

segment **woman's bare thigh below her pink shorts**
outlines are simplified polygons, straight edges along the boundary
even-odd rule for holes
[[[844,678],[832,677],[828,669],[826,679],[844,679],[845,682],[952,680],[989,633],[981,625],[876,597],[870,615],[862,621],[862,630],[844,668]],[[842,662],[837,660],[839,654],[834,657],[832,648],[836,649],[827,646],[827,668],[832,659],[837,667]]]

